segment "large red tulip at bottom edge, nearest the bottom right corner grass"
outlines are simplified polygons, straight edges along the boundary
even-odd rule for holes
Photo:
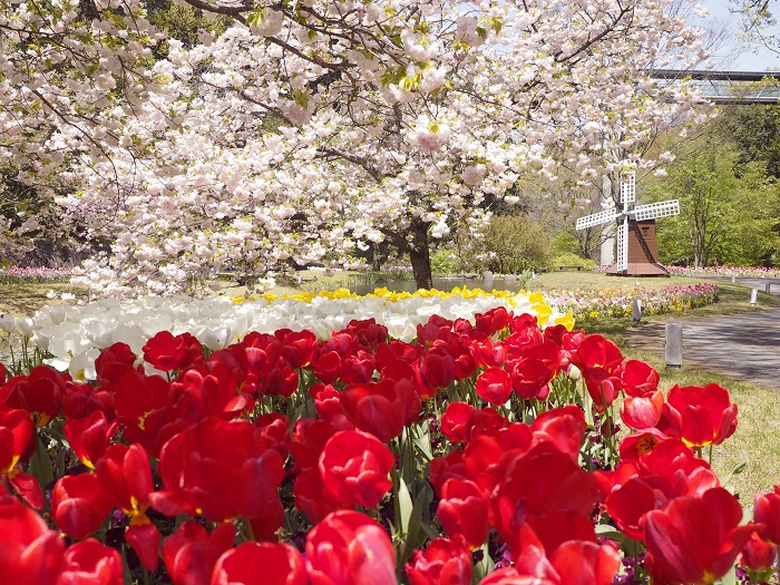
[[[644,518],[645,567],[661,583],[711,584],[728,573],[754,526],[723,488],[680,497]]]

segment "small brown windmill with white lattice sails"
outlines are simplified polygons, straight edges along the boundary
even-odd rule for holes
[[[579,217],[577,230],[617,222],[617,265],[612,274],[624,276],[669,276],[659,264],[655,220],[680,214],[677,199],[635,205],[634,170],[621,174],[621,209],[612,208]]]

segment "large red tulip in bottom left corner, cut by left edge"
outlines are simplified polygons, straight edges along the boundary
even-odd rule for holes
[[[0,496],[0,575],[13,585],[53,585],[65,543],[36,511]]]

